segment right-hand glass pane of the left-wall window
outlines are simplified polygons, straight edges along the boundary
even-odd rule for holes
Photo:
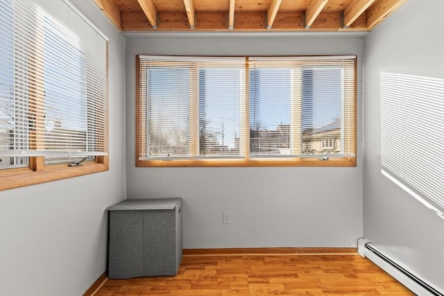
[[[56,19],[44,16],[45,150],[87,151],[86,58],[78,41]]]

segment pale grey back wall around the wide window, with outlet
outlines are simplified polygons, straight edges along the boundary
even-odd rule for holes
[[[356,168],[136,168],[135,55],[358,55],[361,110],[362,35],[126,37],[128,198],[184,198],[185,248],[356,246],[362,236],[361,132]],[[222,224],[223,211],[232,214],[231,225]]]

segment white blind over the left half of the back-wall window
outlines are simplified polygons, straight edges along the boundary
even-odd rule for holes
[[[245,155],[245,58],[139,56],[139,159]]]

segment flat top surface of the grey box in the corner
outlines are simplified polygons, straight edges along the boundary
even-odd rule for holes
[[[180,202],[182,202],[182,198],[130,199],[113,204],[107,210],[174,209]]]

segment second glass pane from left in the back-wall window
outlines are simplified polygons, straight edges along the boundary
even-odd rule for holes
[[[200,69],[199,153],[239,155],[241,70]]]

